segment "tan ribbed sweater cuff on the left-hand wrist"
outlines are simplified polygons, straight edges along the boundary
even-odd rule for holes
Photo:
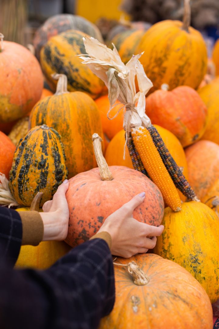
[[[37,211],[19,212],[22,221],[22,245],[37,246],[43,240],[43,220]]]

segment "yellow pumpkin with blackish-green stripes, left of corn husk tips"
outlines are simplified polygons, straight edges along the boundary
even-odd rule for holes
[[[86,54],[83,37],[86,34],[76,30],[63,32],[44,45],[40,52],[40,63],[48,85],[55,91],[54,73],[65,74],[69,91],[84,91],[97,98],[103,91],[104,83],[76,56]]]

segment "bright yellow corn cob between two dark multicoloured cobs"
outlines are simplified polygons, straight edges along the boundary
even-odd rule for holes
[[[160,189],[165,203],[173,210],[181,210],[177,189],[166,170],[161,156],[154,145],[149,131],[144,127],[132,128],[132,138],[145,170]]]

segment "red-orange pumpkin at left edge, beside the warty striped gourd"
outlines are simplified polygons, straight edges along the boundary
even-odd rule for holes
[[[15,148],[11,139],[0,131],[0,172],[7,178],[9,178]]]

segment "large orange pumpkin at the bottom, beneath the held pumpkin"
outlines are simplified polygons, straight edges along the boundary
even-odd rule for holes
[[[154,254],[139,254],[131,261],[149,277],[148,284],[134,284],[126,267],[114,265],[116,302],[99,329],[210,329],[212,308],[208,295],[183,267]]]

